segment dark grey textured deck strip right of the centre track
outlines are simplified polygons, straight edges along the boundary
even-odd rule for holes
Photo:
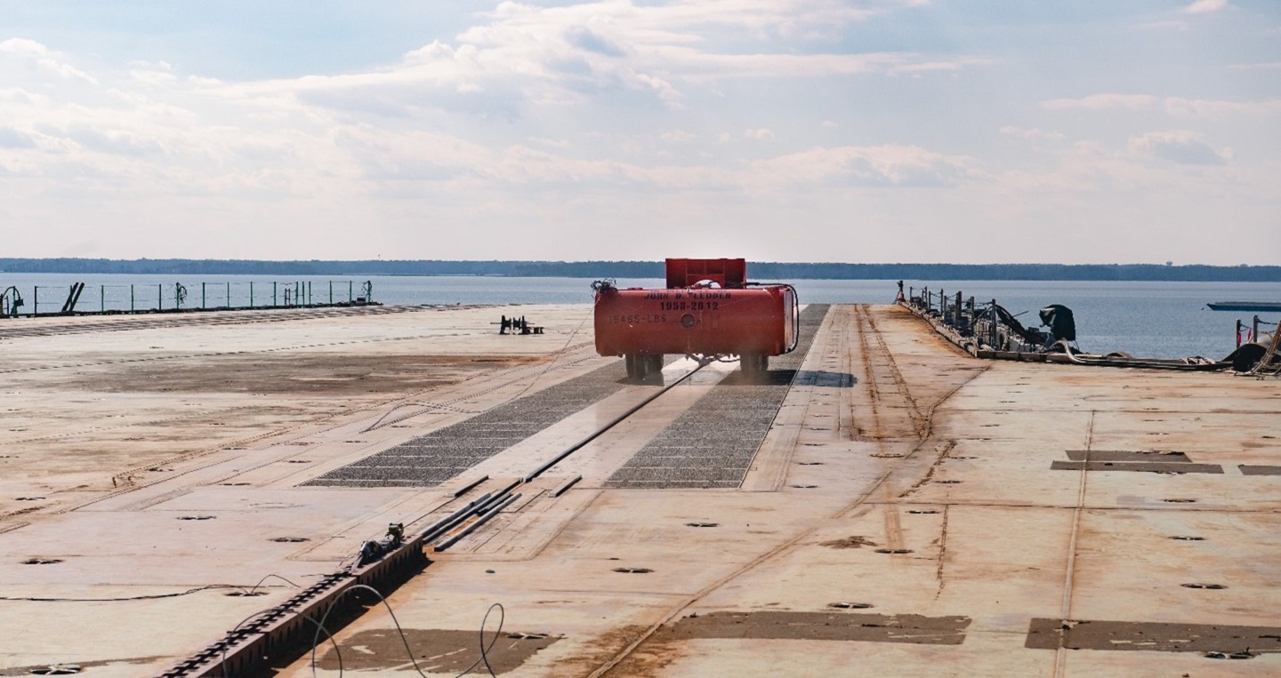
[[[738,487],[828,316],[826,304],[801,312],[797,349],[771,359],[769,382],[748,384],[734,375],[664,429],[606,487]]]

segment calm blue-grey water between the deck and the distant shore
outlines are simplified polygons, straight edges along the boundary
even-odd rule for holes
[[[0,274],[0,285],[15,285],[27,301],[29,312],[38,287],[41,312],[61,308],[67,288],[74,281],[87,284],[78,310],[129,308],[129,285],[133,285],[136,308],[154,308],[163,302],[173,307],[174,283],[187,288],[184,306],[199,307],[201,296],[208,306],[228,303],[247,306],[250,281],[255,303],[269,303],[272,280],[265,276],[211,275],[63,275],[63,274]],[[373,283],[373,298],[383,303],[452,304],[452,303],[592,303],[591,279],[582,278],[479,278],[479,276],[375,276],[375,278],[279,278],[275,279],[278,301],[284,288],[295,281],[311,283],[311,299],[328,302],[329,281],[333,299],[345,301],[348,293],[360,296],[360,284]],[[352,283],[348,285],[348,281]],[[204,284],[204,288],[201,287]],[[619,287],[661,287],[658,279],[620,279]],[[1179,358],[1204,356],[1222,358],[1232,351],[1236,319],[1249,321],[1252,313],[1211,311],[1214,301],[1281,301],[1281,283],[1116,283],[1116,281],[908,281],[911,287],[929,285],[954,294],[958,289],[977,301],[997,299],[1013,313],[1025,312],[1020,320],[1036,325],[1036,311],[1061,303],[1076,316],[1077,344],[1091,353],[1127,351],[1135,356]],[[163,285],[163,288],[158,288]],[[889,303],[897,285],[893,280],[799,280],[796,283],[802,302],[813,303]],[[509,313],[510,315],[510,313]],[[1277,317],[1264,313],[1263,320]],[[535,319],[532,319],[535,320]]]

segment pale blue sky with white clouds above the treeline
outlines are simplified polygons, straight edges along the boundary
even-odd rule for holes
[[[1281,264],[1276,0],[0,0],[0,256]]]

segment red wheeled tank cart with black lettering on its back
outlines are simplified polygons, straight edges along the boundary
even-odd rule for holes
[[[596,288],[596,352],[623,356],[628,377],[662,370],[662,356],[738,356],[748,375],[796,349],[796,288],[747,281],[742,258],[669,258],[665,289]]]

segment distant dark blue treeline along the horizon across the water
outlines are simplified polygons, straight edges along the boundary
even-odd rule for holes
[[[1281,266],[1155,264],[787,264],[748,262],[757,281],[829,280],[1170,280],[1276,283]],[[168,275],[503,275],[662,278],[661,261],[249,261],[190,258],[0,258],[4,272]],[[0,276],[0,284],[4,283]]]

